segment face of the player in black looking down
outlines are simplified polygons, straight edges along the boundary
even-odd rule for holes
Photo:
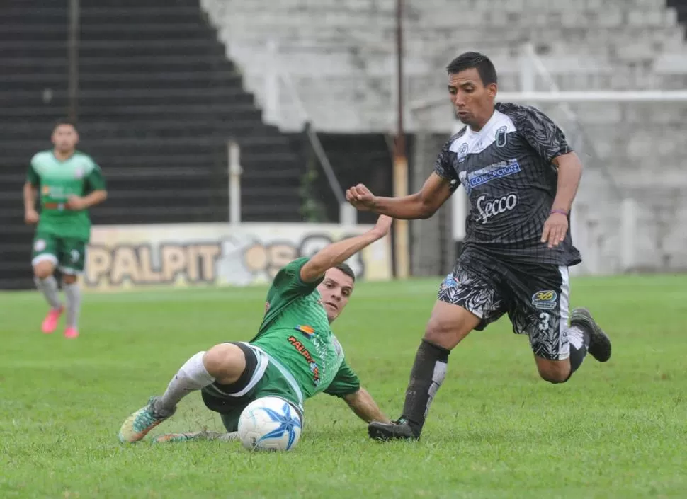
[[[496,84],[484,86],[477,68],[448,75],[448,93],[455,116],[472,130],[482,130],[494,113]]]

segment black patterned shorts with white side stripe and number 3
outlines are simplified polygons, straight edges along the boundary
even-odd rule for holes
[[[513,263],[468,250],[441,283],[438,299],[482,319],[478,330],[507,313],[513,333],[528,335],[535,355],[564,360],[570,355],[569,293],[565,266]]]

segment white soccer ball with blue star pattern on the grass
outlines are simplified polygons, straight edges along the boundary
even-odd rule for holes
[[[239,417],[239,440],[249,450],[290,450],[300,439],[302,421],[290,403],[279,397],[258,398]]]

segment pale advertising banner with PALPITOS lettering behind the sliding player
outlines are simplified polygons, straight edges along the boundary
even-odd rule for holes
[[[300,256],[362,234],[368,225],[161,224],[93,226],[84,289],[254,285]],[[390,236],[348,260],[360,280],[392,277]]]

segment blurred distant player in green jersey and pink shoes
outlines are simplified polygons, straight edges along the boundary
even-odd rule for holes
[[[52,131],[55,147],[33,156],[24,184],[24,220],[27,224],[38,224],[31,262],[34,280],[50,305],[42,331],[55,331],[64,312],[53,276],[59,266],[62,289],[67,297],[66,338],[79,335],[81,292],[76,280],[84,270],[86,244],[91,236],[87,210],[107,197],[100,167],[90,156],[76,151],[78,142],[79,134],[74,124],[59,121]],[[40,214],[35,206],[37,197]]]

